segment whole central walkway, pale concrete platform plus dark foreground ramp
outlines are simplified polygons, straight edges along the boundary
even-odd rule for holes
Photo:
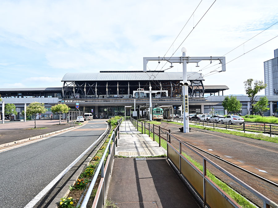
[[[200,207],[166,158],[131,158],[161,154],[164,148],[124,121],[116,155],[128,158],[115,158],[107,200],[120,208]]]

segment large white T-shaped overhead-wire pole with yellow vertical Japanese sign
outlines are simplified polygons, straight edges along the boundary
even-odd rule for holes
[[[222,64],[222,71],[226,71],[226,59],[224,56],[220,57],[189,57],[185,56],[186,48],[182,48],[183,55],[180,57],[144,57],[143,58],[143,71],[147,71],[147,63],[149,61],[167,61],[169,63],[183,63],[183,81],[180,82],[180,85],[183,86],[183,132],[188,133],[189,132],[189,116],[188,116],[188,85],[191,84],[190,81],[187,81],[187,73],[186,73],[186,64],[187,63],[198,63],[202,60],[217,60]],[[220,72],[220,71],[219,71]],[[193,87],[193,85],[192,85]],[[151,88],[151,87],[150,87]],[[150,93],[151,96],[151,93]],[[151,101],[151,98],[150,98]],[[172,112],[173,114],[174,112]]]

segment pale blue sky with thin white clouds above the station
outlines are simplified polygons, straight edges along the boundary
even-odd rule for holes
[[[278,48],[278,4],[213,2],[1,0],[0,88],[62,87],[67,72],[143,71],[143,57],[181,56],[182,47],[186,56],[221,57],[239,46],[225,55],[225,72],[210,61],[187,71],[228,86],[225,94],[245,94],[243,82],[264,80],[263,62]],[[182,71],[169,66],[150,61],[147,69]]]

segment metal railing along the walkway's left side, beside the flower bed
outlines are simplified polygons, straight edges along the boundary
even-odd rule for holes
[[[119,139],[119,135],[120,135],[119,134],[120,125],[121,125],[122,121],[123,121],[123,118],[120,118],[117,121],[118,125],[116,126],[115,129],[113,129],[112,135],[107,143],[107,147],[103,153],[101,160],[99,161],[99,165],[95,171],[95,175],[92,179],[92,182],[91,182],[91,184],[88,188],[88,191],[84,197],[84,200],[81,204],[81,208],[86,208],[100,171],[101,171],[101,180],[99,182],[99,187],[96,192],[92,207],[101,207],[102,208],[104,206],[104,199],[107,194],[107,185],[108,185],[109,178],[111,177],[111,172],[112,172],[111,170],[112,170],[112,166],[113,166],[113,162],[114,162],[115,144],[117,145],[117,143],[118,143],[118,139]],[[112,141],[112,144],[111,144],[111,141]],[[104,164],[104,159],[106,157],[107,151],[108,151],[108,157],[107,157],[106,163]]]

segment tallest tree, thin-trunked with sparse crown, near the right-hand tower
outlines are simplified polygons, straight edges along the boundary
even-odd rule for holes
[[[254,109],[255,100],[257,98],[256,94],[262,89],[266,88],[267,84],[264,84],[263,81],[255,80],[253,83],[253,79],[248,79],[244,81],[245,92],[250,98],[252,109]],[[247,115],[250,114],[250,108],[247,112]]]

